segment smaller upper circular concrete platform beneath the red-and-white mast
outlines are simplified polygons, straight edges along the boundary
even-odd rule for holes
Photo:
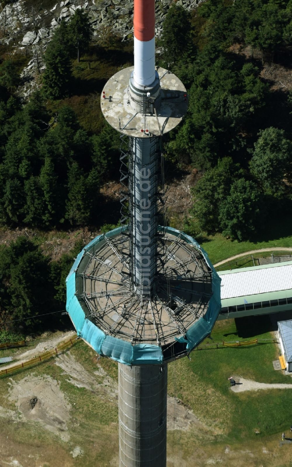
[[[187,112],[188,96],[183,83],[173,73],[157,67],[161,106],[156,114],[139,113],[131,107],[128,94],[129,78],[133,70],[131,66],[118,71],[104,86],[101,96],[104,118],[120,133],[136,138],[168,133]]]

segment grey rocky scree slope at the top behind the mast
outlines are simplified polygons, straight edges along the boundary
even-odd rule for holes
[[[178,0],[177,5],[190,10],[204,0]],[[173,0],[156,1],[156,36],[162,32],[163,18]],[[25,82],[23,96],[26,98],[35,87],[27,81],[32,81],[37,72],[45,68],[42,57],[48,41],[54,34],[54,29],[61,20],[69,21],[76,9],[88,11],[94,35],[101,35],[102,30],[111,30],[125,41],[133,35],[133,0],[65,0],[52,3],[49,10],[36,11],[25,0],[18,0],[6,5],[0,13],[0,44],[9,44],[15,50],[27,53],[33,58],[22,71]]]

